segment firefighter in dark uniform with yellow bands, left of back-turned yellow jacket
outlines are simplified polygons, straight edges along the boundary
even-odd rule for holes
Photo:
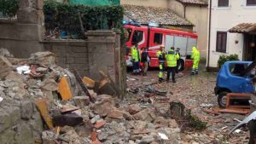
[[[159,82],[163,82],[164,81],[164,71],[165,71],[165,58],[166,52],[165,52],[165,46],[161,45],[160,46],[160,50],[156,53],[156,56],[158,57],[158,61],[159,61]]]

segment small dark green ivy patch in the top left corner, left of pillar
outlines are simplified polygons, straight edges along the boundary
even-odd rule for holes
[[[3,13],[3,16],[13,17],[18,9],[18,0],[0,0],[0,12]]]

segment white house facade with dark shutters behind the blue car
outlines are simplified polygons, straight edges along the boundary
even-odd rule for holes
[[[218,1],[212,0],[212,26],[211,26],[211,43],[210,43],[210,61],[211,67],[217,67],[219,55],[236,54],[242,60],[243,53],[243,34],[227,33],[226,53],[216,51],[217,31],[227,32],[233,26],[240,23],[256,22],[256,7],[246,6],[246,0],[230,0],[230,6],[218,8]],[[235,41],[238,40],[238,43]]]

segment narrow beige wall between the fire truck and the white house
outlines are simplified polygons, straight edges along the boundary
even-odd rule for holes
[[[193,27],[193,32],[196,32],[198,35],[197,49],[201,52],[201,58],[207,58],[207,7],[187,6],[186,19],[195,25]]]

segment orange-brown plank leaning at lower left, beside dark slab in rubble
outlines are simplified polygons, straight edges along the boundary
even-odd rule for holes
[[[38,99],[36,101],[36,105],[38,107],[39,112],[41,113],[41,116],[44,119],[44,122],[47,124],[49,130],[53,130],[54,126],[52,123],[52,119],[49,116],[47,100],[46,99]]]

